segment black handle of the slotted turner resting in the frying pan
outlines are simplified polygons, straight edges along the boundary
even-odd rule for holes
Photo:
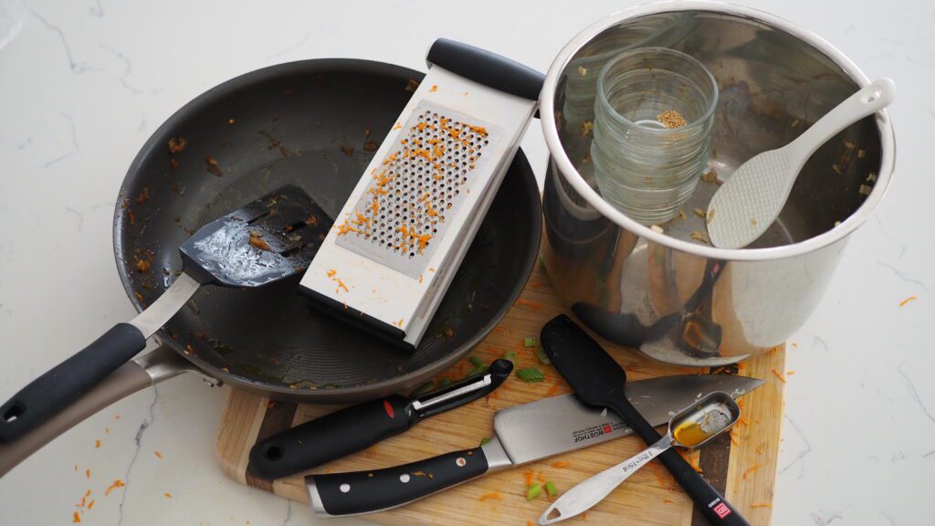
[[[146,337],[139,329],[128,323],[115,325],[0,406],[0,442],[11,442],[35,430],[145,346]]]

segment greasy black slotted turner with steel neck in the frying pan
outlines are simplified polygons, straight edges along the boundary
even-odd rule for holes
[[[136,356],[201,285],[260,286],[305,270],[329,228],[324,211],[295,186],[283,186],[202,226],[179,247],[181,274],[149,308],[129,323],[117,324],[0,407],[0,442],[32,431]],[[149,262],[141,258],[137,264]]]

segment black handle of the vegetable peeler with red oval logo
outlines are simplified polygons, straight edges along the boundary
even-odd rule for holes
[[[410,429],[409,405],[406,397],[393,395],[309,420],[253,446],[250,469],[274,480],[366,449]]]

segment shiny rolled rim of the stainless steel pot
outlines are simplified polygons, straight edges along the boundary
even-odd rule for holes
[[[851,234],[858,226],[870,219],[873,212],[880,206],[889,188],[889,183],[896,165],[896,138],[893,131],[893,124],[886,110],[878,111],[874,117],[877,124],[877,130],[880,133],[881,159],[880,169],[877,173],[877,182],[870,192],[870,196],[860,205],[857,210],[848,216],[839,226],[835,226],[827,232],[809,238],[805,241],[782,245],[770,248],[755,249],[724,249],[712,246],[702,246],[689,241],[677,240],[665,234],[660,234],[652,230],[649,226],[643,226],[637,221],[629,218],[623,212],[613,208],[605,201],[597,191],[586,183],[582,175],[571,163],[568,153],[562,146],[562,141],[558,137],[558,126],[555,122],[555,89],[558,86],[562,73],[571,61],[571,57],[580,51],[585,44],[590,42],[604,30],[627,20],[638,18],[645,15],[665,12],[678,11],[707,11],[712,13],[735,15],[741,18],[753,20],[768,25],[772,28],[784,31],[800,40],[810,44],[818,51],[825,54],[832,62],[841,67],[844,73],[854,80],[858,87],[864,87],[870,83],[867,76],[861,71],[847,56],[832,46],[822,37],[818,37],[811,31],[802,29],[798,25],[788,22],[780,17],[770,15],[759,9],[751,7],[741,7],[724,2],[713,2],[710,0],[664,0],[645,4],[636,7],[611,13],[610,15],[592,23],[584,28],[581,33],[573,37],[562,51],[559,51],[555,57],[549,72],[546,74],[545,84],[542,87],[542,93],[539,96],[539,115],[541,117],[542,134],[545,136],[546,145],[552,157],[552,162],[558,168],[557,171],[566,181],[578,192],[597,212],[607,217],[612,222],[626,228],[626,230],[646,238],[648,241],[667,246],[674,250],[679,250],[696,256],[717,258],[732,261],[766,261],[772,259],[781,259],[785,257],[802,256],[823,248],[827,245],[841,241]]]

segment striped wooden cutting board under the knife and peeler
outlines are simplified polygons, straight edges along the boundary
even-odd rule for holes
[[[383,441],[351,457],[335,460],[309,473],[337,473],[388,467],[466,447],[477,446],[493,433],[497,409],[532,402],[543,397],[570,392],[568,384],[551,366],[539,365],[533,349],[523,344],[525,337],[539,335],[539,329],[555,314],[568,313],[554,295],[545,272],[533,272],[520,300],[510,313],[473,352],[489,363],[508,349],[519,352],[519,367],[539,366],[547,381],[525,384],[511,377],[486,399],[429,418],[406,433]],[[654,376],[685,373],[741,373],[766,380],[766,384],[741,400],[743,416],[730,436],[716,439],[699,452],[686,457],[712,482],[726,491],[727,500],[737,506],[751,524],[770,523],[776,459],[779,452],[780,423],[783,416],[785,352],[777,347],[739,366],[714,371],[663,365],[640,354],[597,339],[626,367],[627,378],[640,380]],[[453,378],[471,369],[467,359],[447,372]],[[258,440],[333,411],[334,407],[269,402],[266,398],[231,390],[221,417],[217,457],[223,471],[242,484],[272,491],[277,495],[308,503],[302,475],[270,482],[252,474],[248,465],[250,448]],[[422,501],[369,516],[390,526],[478,524],[523,526],[536,522],[548,506],[545,498],[533,502],[525,498],[525,479],[552,480],[561,492],[585,478],[624,460],[643,448],[634,436],[587,449],[526,464],[511,471],[487,475]],[[304,475],[304,474],[303,474]],[[586,515],[569,519],[573,524],[702,525],[708,521],[693,513],[689,500],[669,473],[654,460],[611,493]]]

